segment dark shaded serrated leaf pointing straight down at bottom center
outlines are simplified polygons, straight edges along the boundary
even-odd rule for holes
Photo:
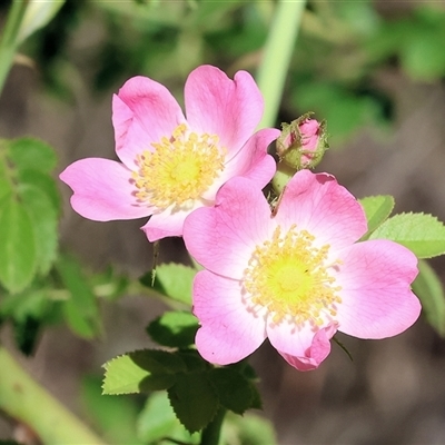
[[[207,372],[178,374],[177,382],[167,393],[176,416],[190,433],[206,427],[219,408]]]

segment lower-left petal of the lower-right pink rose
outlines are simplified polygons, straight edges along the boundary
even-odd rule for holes
[[[241,298],[239,281],[208,270],[196,275],[194,314],[201,324],[196,347],[206,360],[218,365],[239,362],[266,338],[264,318],[247,312]]]

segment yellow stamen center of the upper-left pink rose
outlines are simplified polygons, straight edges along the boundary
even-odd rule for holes
[[[217,135],[197,135],[179,125],[170,139],[151,144],[136,158],[138,170],[132,178],[139,202],[160,209],[175,205],[191,205],[224,170],[225,149],[218,146]]]

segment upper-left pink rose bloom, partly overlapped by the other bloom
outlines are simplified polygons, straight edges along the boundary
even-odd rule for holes
[[[68,166],[60,179],[73,190],[72,208],[108,221],[151,216],[142,227],[150,241],[181,236],[187,215],[212,206],[229,178],[244,176],[260,189],[276,165],[267,146],[277,129],[254,135],[263,98],[246,71],[229,79],[201,66],[185,86],[187,119],[162,85],[128,80],[113,96],[116,154],[121,160],[87,158]]]

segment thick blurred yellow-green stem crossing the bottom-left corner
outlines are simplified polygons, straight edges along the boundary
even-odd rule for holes
[[[105,445],[0,346],[0,409],[30,426],[44,445]]]

